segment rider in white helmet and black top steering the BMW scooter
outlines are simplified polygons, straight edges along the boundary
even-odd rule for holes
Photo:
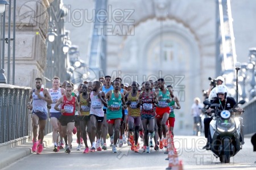
[[[227,92],[228,92],[228,88],[224,84],[221,84],[216,88],[217,99],[213,100],[211,104],[214,104],[214,103],[220,104],[220,108],[219,108],[220,111],[232,109],[232,108],[234,108],[234,105],[237,104],[236,100],[234,100],[233,97],[227,97],[226,96]],[[207,110],[207,113],[210,113],[213,110],[214,110],[213,108],[209,108]],[[237,111],[238,112],[243,112],[243,109],[238,108]],[[241,144],[243,145],[244,142],[243,142],[243,130],[242,130],[242,127],[243,127],[242,117],[239,117],[239,120],[240,120],[240,123],[241,123],[241,137],[242,137]],[[208,138],[207,138],[207,145],[205,145],[203,147],[203,149],[205,148],[206,150],[210,150],[210,143],[212,142],[211,138],[210,138],[210,133],[209,133],[210,121],[212,121],[212,117],[205,118],[205,120],[204,120],[205,137],[208,137]]]

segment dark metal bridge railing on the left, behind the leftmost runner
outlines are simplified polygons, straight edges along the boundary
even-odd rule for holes
[[[30,90],[30,87],[0,84],[0,143],[26,136],[32,139],[31,111],[27,109]],[[48,118],[45,134],[51,131]]]

